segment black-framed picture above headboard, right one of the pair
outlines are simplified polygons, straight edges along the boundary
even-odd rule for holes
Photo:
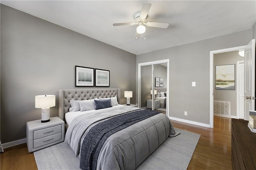
[[[95,69],[95,86],[109,87],[109,70]]]

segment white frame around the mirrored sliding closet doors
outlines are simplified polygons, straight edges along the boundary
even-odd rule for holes
[[[152,89],[154,89],[154,64],[162,64],[162,63],[167,63],[167,79],[166,79],[166,115],[169,117],[169,104],[170,104],[170,98],[169,98],[169,73],[170,73],[170,60],[169,59],[164,59],[164,60],[158,60],[158,61],[150,61],[146,63],[138,63],[138,107],[141,105],[141,96],[140,96],[140,89],[141,89],[141,66],[144,65],[152,65]],[[153,97],[153,94],[152,94]],[[152,98],[153,99],[153,98]],[[154,101],[152,101],[152,106],[154,106]],[[154,108],[154,107],[153,107]]]

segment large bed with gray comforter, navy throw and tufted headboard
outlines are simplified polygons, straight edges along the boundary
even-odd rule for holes
[[[59,117],[65,121],[67,128],[65,143],[74,150],[76,156],[80,156],[80,168],[83,170],[136,169],[168,136],[179,134],[175,132],[166,115],[147,109],[118,104],[105,109],[91,110],[85,114],[80,114],[79,111],[69,112],[72,108],[71,100],[84,103],[96,99],[93,100],[96,104],[98,100],[106,99],[105,101],[112,104],[112,99],[120,101],[120,91],[59,91]],[[78,116],[70,121],[70,118],[66,117],[68,114]]]

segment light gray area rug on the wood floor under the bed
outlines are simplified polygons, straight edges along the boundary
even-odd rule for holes
[[[168,138],[138,170],[186,170],[200,134],[175,128],[180,135]],[[80,170],[80,158],[64,142],[34,152],[38,170]]]

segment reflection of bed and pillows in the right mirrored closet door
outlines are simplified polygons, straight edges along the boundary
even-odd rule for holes
[[[160,108],[156,109],[162,113],[166,113],[166,88],[154,88],[156,90],[155,100],[160,101]]]

